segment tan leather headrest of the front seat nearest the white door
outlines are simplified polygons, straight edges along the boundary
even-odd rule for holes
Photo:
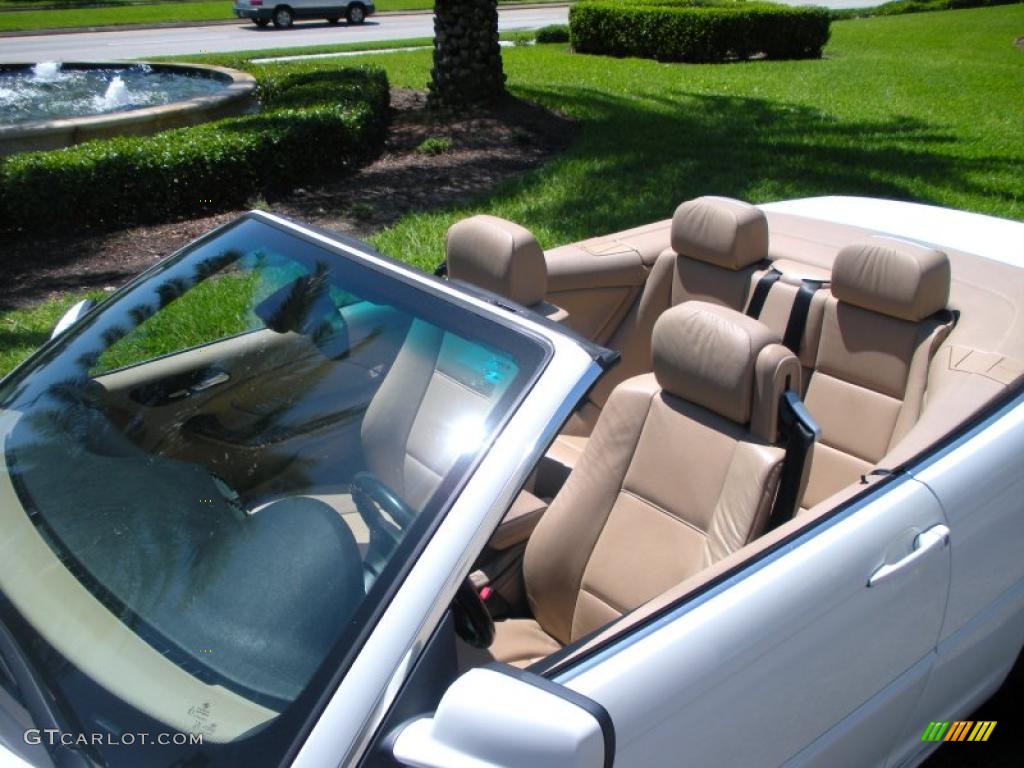
[[[733,309],[686,301],[662,313],[651,341],[667,392],[775,441],[779,397],[800,391],[800,362],[767,326]]]

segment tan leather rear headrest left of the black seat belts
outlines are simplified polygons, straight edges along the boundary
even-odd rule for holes
[[[742,269],[768,257],[768,220],[749,203],[697,198],[672,217],[672,250],[726,269]]]

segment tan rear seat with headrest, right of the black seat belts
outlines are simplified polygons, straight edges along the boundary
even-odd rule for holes
[[[801,506],[869,471],[918,421],[951,317],[949,259],[889,238],[836,257],[805,403],[821,427]]]

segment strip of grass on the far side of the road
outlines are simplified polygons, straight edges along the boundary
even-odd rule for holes
[[[525,0],[498,0],[524,2]],[[565,0],[529,0],[529,2],[565,2]],[[10,5],[11,3],[5,3]],[[0,32],[55,30],[75,27],[108,27],[126,24],[165,24],[171,22],[222,22],[231,19],[230,0],[175,0],[146,4],[125,3],[102,8],[59,10],[12,10],[0,13]],[[426,10],[433,0],[376,0],[378,12]],[[242,22],[239,22],[242,24]]]

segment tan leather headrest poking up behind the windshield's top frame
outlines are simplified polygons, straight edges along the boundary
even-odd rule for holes
[[[529,230],[497,216],[453,224],[445,239],[449,276],[472,283],[524,306],[548,292],[544,251]]]

